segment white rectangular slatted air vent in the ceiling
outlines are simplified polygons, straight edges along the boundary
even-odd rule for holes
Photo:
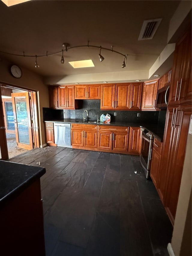
[[[152,39],[162,19],[144,20],[138,40]]]

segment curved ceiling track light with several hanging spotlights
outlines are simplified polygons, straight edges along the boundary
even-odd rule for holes
[[[58,54],[58,53],[62,53],[62,57],[61,57],[61,64],[64,64],[65,61],[64,61],[64,57],[63,57],[63,51],[66,51],[69,50],[69,49],[72,49],[72,48],[79,48],[79,47],[94,47],[94,48],[99,48],[100,49],[100,52],[99,52],[99,60],[102,62],[104,60],[104,57],[101,55],[101,49],[104,49],[104,50],[108,50],[110,52],[113,52],[113,53],[118,53],[122,56],[124,56],[124,61],[123,61],[123,64],[122,64],[122,68],[125,68],[126,67],[126,62],[127,62],[127,54],[123,54],[123,53],[120,53],[120,52],[117,52],[117,51],[114,51],[113,50],[113,46],[111,46],[111,49],[108,49],[108,48],[104,48],[104,47],[101,47],[101,46],[96,46],[96,45],[89,45],[89,41],[87,42],[86,45],[77,45],[77,46],[72,46],[70,47],[70,44],[68,43],[63,43],[62,46],[65,48],[65,49],[62,49],[61,51],[59,52],[55,52],[55,53],[49,53],[46,51],[46,55],[26,55],[25,52],[23,52],[23,54],[14,54],[14,53],[7,53],[7,52],[3,52],[3,51],[0,51],[0,53],[5,53],[5,54],[9,54],[9,55],[13,55],[13,56],[21,56],[21,57],[35,57],[35,68],[39,68],[39,65],[37,63],[37,57],[48,57],[48,56],[51,56],[51,55],[55,55],[55,54]]]

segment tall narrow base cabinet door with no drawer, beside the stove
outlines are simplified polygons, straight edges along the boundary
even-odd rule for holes
[[[140,149],[140,127],[130,127],[129,130],[129,148],[132,153],[139,153]]]

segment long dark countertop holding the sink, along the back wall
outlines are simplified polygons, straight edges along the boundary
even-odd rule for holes
[[[82,124],[76,122],[77,119],[59,119],[59,120],[46,120],[44,122],[58,122],[58,123],[76,123],[76,124]],[[163,136],[164,136],[164,126],[160,126],[158,124],[146,124],[146,123],[129,123],[129,122],[110,122],[110,123],[87,123],[85,122],[86,125],[115,125],[115,126],[128,126],[128,127],[145,127],[149,131],[151,131],[154,136],[160,140],[163,141]]]

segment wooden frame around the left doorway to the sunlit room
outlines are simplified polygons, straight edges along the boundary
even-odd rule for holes
[[[0,86],[6,86],[7,88],[10,89],[21,89],[26,92],[31,93],[30,96],[30,101],[31,101],[31,113],[33,116],[33,143],[34,143],[34,148],[39,148],[40,147],[40,130],[41,130],[41,124],[40,124],[40,109],[38,105],[38,91],[37,90],[32,90],[27,87],[22,87],[22,86],[17,86],[9,83],[4,83],[0,81]],[[0,89],[0,98],[1,98],[1,89]],[[0,128],[5,127],[4,123],[4,113],[3,113],[3,104],[2,101],[0,100]],[[9,159],[8,155],[8,149],[7,149],[7,138],[6,138],[6,132],[5,129],[0,129],[0,149],[1,149],[1,160],[7,160]]]

